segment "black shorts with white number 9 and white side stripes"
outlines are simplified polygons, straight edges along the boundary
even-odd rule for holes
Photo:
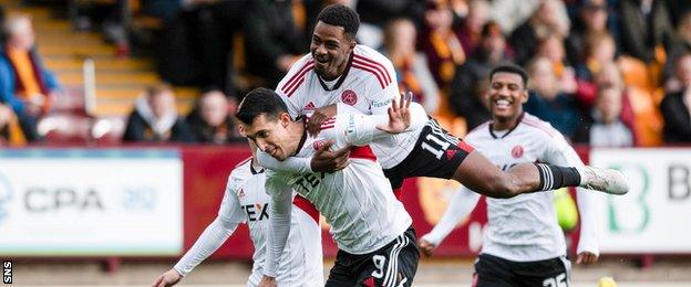
[[[326,286],[412,286],[419,261],[415,231],[411,226],[375,252],[355,255],[339,251]]]

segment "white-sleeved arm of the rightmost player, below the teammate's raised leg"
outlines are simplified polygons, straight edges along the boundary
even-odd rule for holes
[[[463,219],[473,212],[479,198],[479,194],[465,187],[461,187],[458,192],[451,198],[448,206],[446,211],[444,211],[444,215],[442,215],[440,222],[434,225],[434,228],[430,233],[420,238],[420,249],[425,256],[432,256],[432,252],[436,246],[448,236]]]

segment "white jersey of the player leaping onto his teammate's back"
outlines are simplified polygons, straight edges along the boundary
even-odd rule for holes
[[[389,59],[365,45],[355,45],[352,62],[347,67],[344,77],[330,82],[334,86],[327,91],[314,73],[311,54],[302,56],[292,65],[288,74],[278,84],[276,93],[281,96],[290,116],[307,117],[320,107],[342,103],[365,115],[385,115],[393,98],[399,98],[399,84],[395,70]],[[339,82],[340,83],[339,85]],[[339,114],[352,114],[342,111]],[[420,129],[422,130],[422,129]],[[370,147],[384,169],[395,167],[412,151],[417,140],[417,132],[406,132],[383,138]],[[395,150],[395,152],[392,152]]]

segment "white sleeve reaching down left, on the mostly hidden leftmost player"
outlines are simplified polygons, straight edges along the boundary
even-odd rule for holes
[[[228,178],[226,193],[220,203],[218,216],[206,226],[192,248],[173,267],[181,275],[187,276],[199,263],[214,254],[230,237],[239,223],[246,221],[236,193],[245,180],[243,174],[239,173],[243,172],[235,170]]]

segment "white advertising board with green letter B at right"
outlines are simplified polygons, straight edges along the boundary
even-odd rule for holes
[[[602,253],[691,252],[691,149],[594,149],[590,164],[631,182],[626,195],[597,196]]]

